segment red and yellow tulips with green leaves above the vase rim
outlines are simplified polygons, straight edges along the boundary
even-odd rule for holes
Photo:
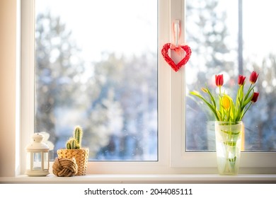
[[[219,87],[219,94],[217,97],[209,91],[207,85],[201,90],[207,94],[209,99],[205,99],[205,97],[197,91],[191,91],[190,94],[200,98],[207,107],[212,110],[217,121],[238,122],[243,119],[243,116],[246,114],[249,107],[258,100],[259,93],[254,92],[257,79],[258,74],[253,71],[249,78],[251,85],[249,86],[248,91],[244,93],[243,89],[246,83],[246,76],[238,76],[238,91],[236,93],[235,102],[229,95],[222,93],[222,86],[224,84],[223,74],[215,76],[216,86]]]

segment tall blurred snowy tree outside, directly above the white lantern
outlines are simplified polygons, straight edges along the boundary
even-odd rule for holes
[[[73,61],[74,60],[74,61]],[[37,17],[35,29],[35,130],[57,138],[55,111],[72,105],[79,94],[79,82],[74,78],[83,72],[78,50],[71,32],[59,18],[47,14]]]

